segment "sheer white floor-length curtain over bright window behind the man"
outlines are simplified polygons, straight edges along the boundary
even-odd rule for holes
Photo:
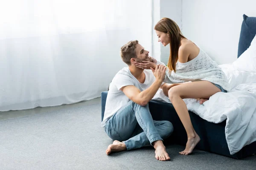
[[[152,50],[151,0],[0,1],[0,111],[99,97],[123,44]]]

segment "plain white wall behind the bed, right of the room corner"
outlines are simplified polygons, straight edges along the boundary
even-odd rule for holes
[[[182,31],[218,64],[233,62],[243,14],[256,17],[256,0],[183,0]]]

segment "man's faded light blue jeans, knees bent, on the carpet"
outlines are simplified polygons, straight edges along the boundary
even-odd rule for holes
[[[105,132],[111,139],[124,142],[127,150],[132,150],[163,141],[172,134],[173,126],[169,121],[153,120],[148,104],[141,106],[130,101],[108,119]]]

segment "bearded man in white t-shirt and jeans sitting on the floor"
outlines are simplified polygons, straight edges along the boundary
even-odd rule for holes
[[[163,84],[166,67],[157,65],[155,69],[151,68],[154,74],[151,70],[138,68],[136,63],[145,60],[157,64],[148,53],[137,40],[121,48],[122,60],[128,67],[120,70],[109,86],[102,127],[114,142],[108,146],[107,155],[151,144],[156,159],[170,159],[163,139],[172,134],[172,123],[154,121],[148,108],[148,102]]]

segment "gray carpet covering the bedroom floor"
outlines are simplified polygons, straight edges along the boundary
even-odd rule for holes
[[[166,162],[154,158],[153,147],[107,156],[105,150],[112,140],[100,127],[99,102],[37,111],[0,120],[1,170],[256,169],[256,156],[236,160],[201,150],[183,156],[178,154],[184,149],[180,145],[166,145],[171,157]],[[0,117],[6,115],[0,113]]]

